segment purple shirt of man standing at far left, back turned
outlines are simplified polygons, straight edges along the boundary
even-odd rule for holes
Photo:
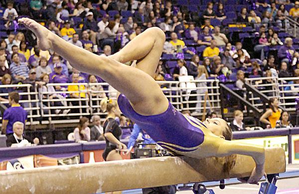
[[[8,124],[6,127],[6,135],[12,134],[13,123],[19,121],[24,123],[25,125],[25,121],[27,120],[27,112],[20,105],[12,106],[4,111],[3,120],[8,120]]]

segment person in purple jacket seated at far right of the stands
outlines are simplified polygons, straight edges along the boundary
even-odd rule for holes
[[[281,46],[278,50],[278,57],[280,60],[285,61],[289,65],[292,63],[294,54],[295,49],[293,47],[293,39],[287,37],[285,39],[285,45]]]

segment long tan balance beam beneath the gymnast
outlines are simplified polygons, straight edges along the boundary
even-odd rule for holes
[[[217,160],[220,161],[220,160]],[[225,179],[215,158],[156,157],[0,172],[1,194],[93,194]],[[230,178],[248,177],[254,160],[238,155]],[[285,151],[266,149],[267,174],[286,171]]]

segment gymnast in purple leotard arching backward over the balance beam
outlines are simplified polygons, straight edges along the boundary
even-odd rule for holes
[[[121,92],[118,105],[123,114],[167,151],[199,159],[248,155],[254,159],[256,167],[247,183],[258,184],[264,176],[263,147],[227,141],[232,139],[232,132],[223,119],[200,122],[182,115],[168,102],[152,78],[165,41],[161,29],[151,27],[131,40],[121,51],[105,57],[63,40],[32,19],[20,18],[18,22],[36,35],[40,49],[55,50],[74,68],[100,76]],[[133,60],[137,60],[136,68],[124,64]],[[231,168],[232,165],[227,167],[228,172]]]

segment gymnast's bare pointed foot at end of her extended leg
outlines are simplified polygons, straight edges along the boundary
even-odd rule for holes
[[[37,45],[41,50],[52,48],[51,39],[53,38],[53,34],[47,28],[27,17],[18,19],[18,22],[24,24],[26,28],[30,29],[36,35]]]

